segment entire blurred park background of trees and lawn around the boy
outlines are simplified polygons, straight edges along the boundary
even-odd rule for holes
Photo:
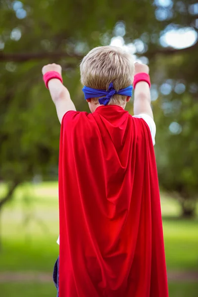
[[[88,111],[79,62],[101,45],[150,68],[169,294],[198,296],[198,3],[0,0],[2,297],[56,296],[60,125],[41,69],[60,63],[77,110]]]

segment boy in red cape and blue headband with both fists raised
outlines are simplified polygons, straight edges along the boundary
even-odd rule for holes
[[[59,297],[167,297],[148,66],[107,46],[80,70],[92,113],[76,111],[59,65],[42,70],[61,123]]]

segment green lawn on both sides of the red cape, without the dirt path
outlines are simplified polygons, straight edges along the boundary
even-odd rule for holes
[[[0,193],[4,190],[1,185]],[[0,272],[52,272],[58,255],[57,197],[57,183],[26,185],[16,191],[1,215]],[[198,219],[177,219],[180,214],[177,201],[164,195],[161,206],[167,269],[196,270]],[[170,283],[169,289],[170,297],[197,296],[194,283]],[[0,283],[0,292],[3,297],[56,295],[52,283]]]

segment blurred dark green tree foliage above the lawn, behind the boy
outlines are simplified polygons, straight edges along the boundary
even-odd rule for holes
[[[60,63],[76,108],[88,111],[77,65],[87,51],[109,45],[121,34],[125,44],[141,41],[144,49],[137,49],[136,56],[149,60],[152,94],[158,97],[153,112],[160,185],[179,195],[184,214],[193,214],[198,193],[198,43],[171,49],[161,45],[160,37],[172,28],[197,30],[195,1],[164,2],[0,0],[0,180],[9,185],[4,202],[15,186],[35,175],[57,178],[59,122],[42,82],[42,66]],[[125,32],[119,32],[119,24]]]

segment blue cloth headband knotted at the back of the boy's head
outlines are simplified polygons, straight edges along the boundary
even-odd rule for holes
[[[110,85],[108,87],[108,91],[93,89],[93,88],[89,88],[89,87],[86,87],[86,86],[83,87],[83,92],[84,92],[84,95],[85,95],[85,99],[105,96],[105,97],[99,98],[99,104],[103,104],[103,105],[108,104],[110,99],[115,94],[131,97],[132,96],[132,90],[133,90],[133,87],[129,86],[129,87],[125,88],[125,89],[116,91],[113,88],[113,83],[112,82],[110,83]]]

